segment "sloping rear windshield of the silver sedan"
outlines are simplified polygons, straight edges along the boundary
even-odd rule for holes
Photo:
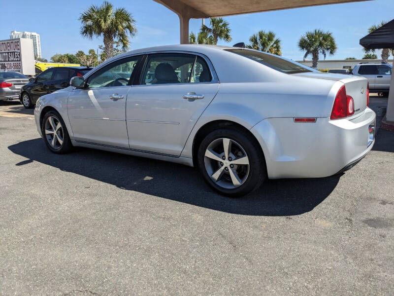
[[[259,62],[265,66],[268,66],[270,68],[273,68],[283,73],[295,74],[295,73],[303,73],[303,72],[312,72],[312,69],[305,67],[301,64],[291,62],[279,56],[267,54],[265,52],[243,49],[243,48],[231,48],[225,50],[247,57],[249,59],[252,59],[256,62]]]

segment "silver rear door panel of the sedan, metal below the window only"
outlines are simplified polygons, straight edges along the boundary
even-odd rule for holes
[[[179,156],[197,119],[218,89],[218,83],[132,87],[126,108],[130,148]],[[204,98],[183,98],[193,92]]]

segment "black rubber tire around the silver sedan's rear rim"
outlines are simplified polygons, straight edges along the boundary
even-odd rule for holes
[[[244,149],[249,159],[249,173],[242,185],[235,188],[224,188],[218,185],[209,176],[205,167],[205,151],[215,140],[227,138],[235,141]],[[197,152],[197,165],[205,182],[220,194],[230,197],[240,197],[253,192],[260,187],[266,179],[266,166],[264,155],[259,148],[260,144],[250,134],[237,128],[220,128],[210,132],[201,142]],[[223,157],[223,156],[222,156]],[[227,169],[229,171],[229,169]],[[228,177],[227,177],[228,178]]]

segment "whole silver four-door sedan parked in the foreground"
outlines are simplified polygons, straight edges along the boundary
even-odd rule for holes
[[[129,79],[108,75],[122,64],[132,65]],[[374,143],[367,79],[251,49],[133,50],[70,84],[40,97],[34,110],[51,151],[82,146],[196,166],[229,196],[266,178],[341,173]]]

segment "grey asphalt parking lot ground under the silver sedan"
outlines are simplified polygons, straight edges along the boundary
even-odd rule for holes
[[[190,167],[53,154],[32,114],[0,102],[0,295],[393,295],[394,132],[231,199]]]

